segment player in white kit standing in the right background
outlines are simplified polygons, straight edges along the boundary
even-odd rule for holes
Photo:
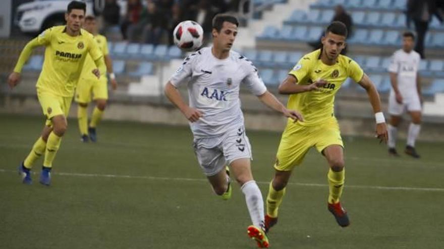
[[[419,158],[415,149],[415,140],[421,129],[421,79],[418,68],[420,55],[413,50],[415,36],[412,32],[403,34],[402,49],[393,54],[392,62],[388,66],[392,90],[388,99],[388,112],[391,115],[388,125],[388,153],[399,156],[396,151],[396,137],[401,116],[407,109],[412,118],[407,137],[405,153]]]

